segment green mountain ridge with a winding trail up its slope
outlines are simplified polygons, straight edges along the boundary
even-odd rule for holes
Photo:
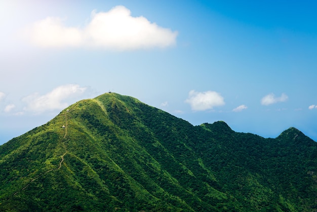
[[[105,93],[0,146],[0,211],[317,211],[316,164],[295,128],[193,126]]]

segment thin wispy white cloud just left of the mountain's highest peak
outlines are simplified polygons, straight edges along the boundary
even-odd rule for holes
[[[59,86],[45,95],[31,94],[22,99],[27,104],[24,110],[42,113],[44,111],[64,109],[68,106],[68,103],[62,102],[63,100],[78,97],[86,89],[79,85],[69,84]]]

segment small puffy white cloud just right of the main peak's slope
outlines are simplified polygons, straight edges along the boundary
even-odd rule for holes
[[[215,91],[196,92],[191,90],[185,102],[189,103],[194,111],[205,111],[225,104],[223,97]]]

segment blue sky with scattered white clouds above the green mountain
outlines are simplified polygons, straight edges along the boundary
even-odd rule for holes
[[[111,91],[317,141],[315,1],[0,1],[0,145]]]

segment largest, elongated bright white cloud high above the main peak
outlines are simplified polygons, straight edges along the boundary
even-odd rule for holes
[[[178,32],[132,17],[124,6],[108,12],[92,12],[83,28],[68,27],[65,20],[47,17],[33,24],[32,41],[41,47],[97,47],[111,50],[134,50],[168,47],[176,43]]]

